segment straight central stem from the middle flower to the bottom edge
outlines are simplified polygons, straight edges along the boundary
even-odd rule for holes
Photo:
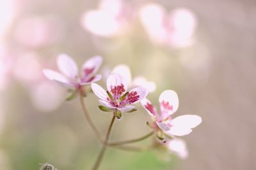
[[[112,129],[112,127],[113,127],[113,124],[114,124],[114,122],[115,122],[115,118],[116,118],[115,115],[113,115],[113,118],[112,118],[112,120],[111,120],[111,123],[110,123],[110,125],[109,125],[109,127],[108,127],[108,132],[107,132],[107,134],[106,134],[104,143],[108,143],[109,135],[110,135],[111,129]],[[95,162],[95,164],[94,164],[92,170],[97,170],[97,169],[99,168],[100,163],[102,162],[104,153],[106,152],[106,148],[107,148],[107,145],[103,145],[103,146],[102,146],[102,149],[100,150],[99,156],[98,156],[98,158],[97,158],[97,160],[96,160],[96,162]]]

